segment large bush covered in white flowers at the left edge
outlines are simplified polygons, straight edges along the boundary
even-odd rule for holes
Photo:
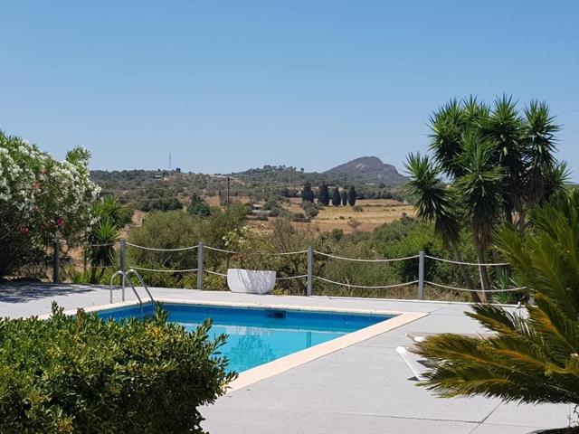
[[[78,236],[94,224],[91,204],[100,187],[90,181],[85,148],[72,149],[57,161],[18,137],[0,131],[0,225],[38,243],[55,232]]]

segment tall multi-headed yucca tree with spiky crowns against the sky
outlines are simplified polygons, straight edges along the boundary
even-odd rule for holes
[[[545,103],[532,101],[521,116],[507,96],[492,109],[472,97],[452,99],[432,115],[431,130],[432,159],[418,164],[420,157],[408,157],[409,191],[418,197],[419,217],[439,227],[442,241],[470,227],[479,263],[485,262],[501,221],[510,223],[517,216],[523,231],[527,208],[545,202],[565,184],[565,165],[554,156],[558,127]],[[433,189],[442,180],[448,187]],[[454,214],[455,227],[449,226],[447,214]],[[484,299],[490,288],[486,267],[479,266],[479,275]]]

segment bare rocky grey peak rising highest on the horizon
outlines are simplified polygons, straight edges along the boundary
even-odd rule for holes
[[[398,173],[394,165],[386,165],[377,156],[362,156],[343,165],[337,165],[324,173],[327,175],[356,176],[356,179],[364,180],[365,183],[379,182],[388,185],[401,185],[407,181],[405,176]]]

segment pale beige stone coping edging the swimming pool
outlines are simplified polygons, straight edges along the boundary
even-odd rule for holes
[[[327,354],[335,353],[342,350],[350,345],[363,342],[367,339],[375,337],[376,335],[382,335],[383,333],[389,332],[398,328],[400,326],[412,323],[424,316],[429,316],[429,313],[424,312],[402,312],[396,310],[382,310],[382,309],[360,309],[360,308],[343,308],[343,307],[311,307],[311,306],[297,306],[288,304],[271,304],[271,303],[236,303],[236,302],[225,302],[225,301],[198,301],[198,300],[185,300],[182,298],[167,298],[159,297],[155,299],[155,302],[160,303],[173,303],[173,304],[183,304],[183,305],[195,305],[195,306],[212,306],[212,307],[244,307],[244,308],[266,308],[266,309],[284,309],[284,310],[294,310],[294,311],[304,311],[304,312],[327,312],[327,313],[342,313],[342,314],[358,314],[358,315],[379,315],[379,316],[393,316],[384,321],[376,323],[374,325],[368,325],[367,327],[356,330],[355,332],[350,332],[346,335],[339,336],[321,344],[310,346],[309,348],[300,350],[296,353],[284,355],[279,359],[272,360],[268,363],[263,363],[247,371],[239,373],[238,377],[227,385],[227,393],[235,392],[243,389],[255,382],[260,382],[274,375],[280,373],[285,373],[290,369],[296,368],[302,364],[312,362],[313,360],[323,357]],[[149,304],[151,301],[147,301],[144,304]],[[85,312],[95,312],[102,310],[115,309],[119,307],[133,307],[138,306],[138,301],[122,301],[117,303],[109,303],[100,306],[85,307]],[[76,314],[77,309],[71,309],[64,311],[66,315]],[[46,319],[51,314],[39,316],[40,319]]]

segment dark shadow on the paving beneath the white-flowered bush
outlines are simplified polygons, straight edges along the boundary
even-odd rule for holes
[[[0,283],[0,303],[23,303],[30,300],[82,294],[106,289],[98,285],[70,285],[39,282],[2,282]]]

